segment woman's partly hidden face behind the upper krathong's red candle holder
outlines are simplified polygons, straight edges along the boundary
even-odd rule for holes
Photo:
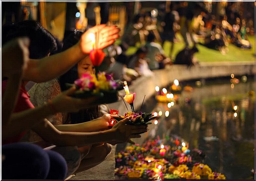
[[[82,77],[83,74],[95,74],[95,67],[92,65],[92,61],[89,56],[80,60],[77,64],[78,77]]]

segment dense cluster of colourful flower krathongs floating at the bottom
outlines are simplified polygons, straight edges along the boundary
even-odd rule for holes
[[[193,158],[192,158],[193,157]],[[116,155],[115,175],[119,179],[225,179],[202,162],[201,150],[188,149],[178,139],[163,143],[148,140],[143,145],[130,145]]]

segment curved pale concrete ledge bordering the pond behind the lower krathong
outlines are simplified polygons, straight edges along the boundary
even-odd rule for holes
[[[254,61],[241,61],[241,62],[211,62],[211,63],[200,63],[188,69],[186,65],[172,65],[166,69],[154,70],[154,76],[152,77],[140,77],[139,79],[132,82],[129,86],[130,92],[136,92],[134,107],[135,110],[140,109],[144,95],[145,100],[155,94],[155,86],[163,87],[174,79],[179,81],[193,80],[193,79],[207,79],[215,77],[242,75],[254,75],[255,64]],[[125,95],[125,91],[119,91],[120,94]],[[127,109],[122,100],[118,102],[108,104],[110,109],[118,109],[119,114],[124,114]]]

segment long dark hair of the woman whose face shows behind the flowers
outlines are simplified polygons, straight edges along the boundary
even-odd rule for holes
[[[74,46],[81,38],[83,32],[75,30],[72,34],[70,34],[64,41],[62,51],[67,50],[68,48]],[[78,71],[77,71],[77,64],[74,65],[70,70],[68,70],[65,74],[59,77],[60,88],[62,91],[66,90],[67,87],[65,86],[66,83],[73,84],[75,80],[77,80]],[[96,118],[99,118],[99,106],[91,107],[89,109],[81,110],[79,112],[72,112],[69,114],[71,118],[71,123],[83,123],[87,122]],[[68,120],[63,120],[63,122]]]

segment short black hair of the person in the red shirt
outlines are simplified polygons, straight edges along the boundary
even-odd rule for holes
[[[57,50],[57,44],[53,35],[39,22],[28,20],[15,24],[6,24],[2,27],[2,44],[17,37],[29,37],[29,56],[39,59]]]

